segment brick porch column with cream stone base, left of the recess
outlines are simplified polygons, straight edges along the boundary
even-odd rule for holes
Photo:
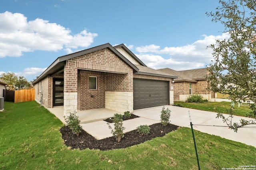
[[[77,67],[75,61],[66,61],[64,67],[64,116],[77,111]]]

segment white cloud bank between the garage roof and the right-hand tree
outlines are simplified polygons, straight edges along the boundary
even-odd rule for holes
[[[206,47],[214,44],[216,39],[228,39],[228,33],[222,35],[202,35],[203,39],[192,44],[181,47],[164,47],[157,45],[146,45],[137,47],[139,54],[136,56],[147,66],[159,68],[172,68],[174,70],[189,70],[194,68],[204,68],[212,63],[212,49]]]

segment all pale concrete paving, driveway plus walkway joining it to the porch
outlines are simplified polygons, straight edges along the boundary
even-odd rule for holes
[[[215,112],[201,111],[176,106],[165,107],[168,107],[171,110],[170,123],[174,125],[190,128],[190,120],[188,116],[189,111],[192,123],[194,125],[194,130],[198,130],[212,135],[217,135],[226,139],[230,139],[232,141],[238,141],[256,147],[256,125],[248,125],[248,128],[240,128],[236,133],[233,130],[228,129],[228,127],[218,127],[226,126],[226,123],[223,123],[222,119],[217,119],[217,113]],[[138,127],[139,125],[152,125],[154,123],[159,123],[161,110],[162,107],[135,110],[133,114],[138,115],[140,117],[124,121],[124,127],[126,128],[125,132],[132,131],[136,129],[136,127]],[[239,122],[240,119],[250,120],[249,118],[239,116],[234,116],[232,120],[234,122]],[[114,123],[110,123],[110,125],[114,127]],[[90,133],[96,139],[104,139],[106,137],[112,136],[111,131],[108,128],[108,125],[106,124],[106,121],[84,123],[82,124],[82,127],[86,132]]]

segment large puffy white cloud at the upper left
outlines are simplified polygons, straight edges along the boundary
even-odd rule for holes
[[[40,18],[27,21],[20,13],[0,13],[0,57],[19,57],[22,52],[35,50],[88,47],[96,36],[98,34],[87,32],[86,29],[72,35],[71,30],[62,25]]]

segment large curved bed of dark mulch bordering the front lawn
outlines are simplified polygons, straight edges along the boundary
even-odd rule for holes
[[[110,149],[120,149],[127,148],[133,145],[138,145],[154,139],[155,137],[162,137],[171,131],[178,129],[178,126],[168,124],[163,126],[161,123],[156,123],[150,125],[150,134],[142,135],[136,130],[127,132],[124,134],[124,138],[121,139],[120,143],[116,141],[114,137],[108,137],[106,139],[96,140],[92,135],[88,134],[86,131],[82,130],[79,136],[74,135],[68,126],[64,126],[60,129],[62,133],[62,139],[66,146],[72,149],[100,149],[100,150],[110,150]]]

